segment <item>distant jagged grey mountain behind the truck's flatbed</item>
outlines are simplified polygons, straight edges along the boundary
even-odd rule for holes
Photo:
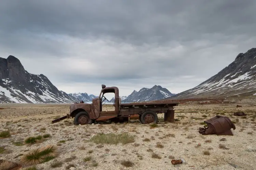
[[[152,88],[142,88],[139,91],[134,90],[121,103],[153,101],[173,96],[169,90],[161,86],[153,86]]]

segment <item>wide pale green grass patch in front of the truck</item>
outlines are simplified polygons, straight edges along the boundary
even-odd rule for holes
[[[123,145],[127,143],[134,142],[134,135],[130,135],[129,133],[121,133],[121,134],[114,134],[114,133],[99,133],[93,136],[90,141],[93,141],[96,144],[111,144],[116,145],[117,143],[122,143]]]

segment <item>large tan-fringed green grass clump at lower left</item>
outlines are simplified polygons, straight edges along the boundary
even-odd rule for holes
[[[31,150],[29,153],[23,155],[20,162],[24,165],[36,165],[47,162],[57,156],[57,147],[54,145],[47,145],[38,149]]]

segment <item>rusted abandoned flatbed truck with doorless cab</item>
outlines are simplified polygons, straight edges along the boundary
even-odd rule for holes
[[[56,123],[63,119],[74,118],[75,125],[92,124],[96,121],[129,121],[130,116],[139,115],[142,124],[157,123],[158,113],[164,113],[164,121],[174,121],[174,106],[179,102],[144,102],[144,103],[121,103],[119,98],[119,89],[117,87],[106,87],[101,85],[102,89],[98,98],[93,99],[91,104],[74,103],[70,105],[70,113],[61,118],[55,119]],[[104,94],[114,93],[114,111],[102,111],[102,103],[108,99]]]

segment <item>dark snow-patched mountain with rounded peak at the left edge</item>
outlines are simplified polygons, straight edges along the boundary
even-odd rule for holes
[[[43,75],[27,72],[18,58],[0,57],[0,103],[73,103]]]

